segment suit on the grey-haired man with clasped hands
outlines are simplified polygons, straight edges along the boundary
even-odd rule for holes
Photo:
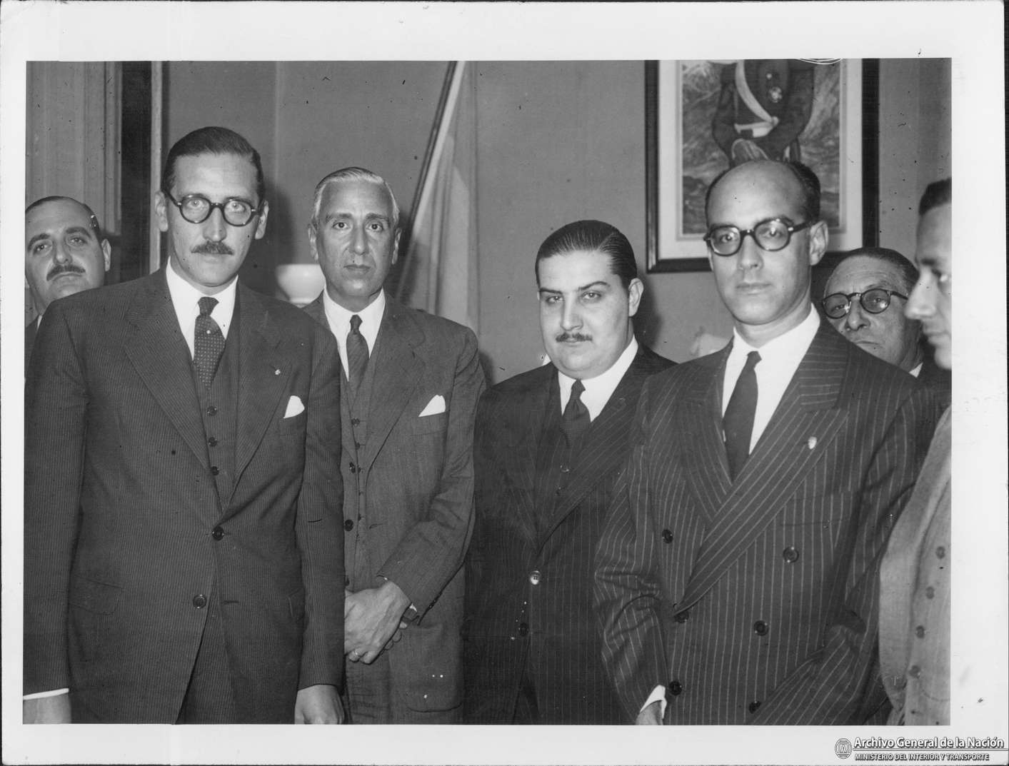
[[[328,327],[322,296],[305,311]],[[366,520],[371,567],[351,574],[371,586],[378,575],[393,580],[421,617],[388,651],[387,673],[358,667],[349,683],[388,710],[379,721],[453,723],[462,698],[461,567],[472,529],[473,418],[484,388],[476,337],[387,300],[369,375],[367,440],[356,450],[350,424],[343,430],[344,510],[347,519],[359,510]],[[435,396],[444,398],[445,412],[420,417]],[[355,451],[351,470],[347,456]],[[357,532],[347,535],[348,555]],[[350,713],[353,720],[353,706]]]

